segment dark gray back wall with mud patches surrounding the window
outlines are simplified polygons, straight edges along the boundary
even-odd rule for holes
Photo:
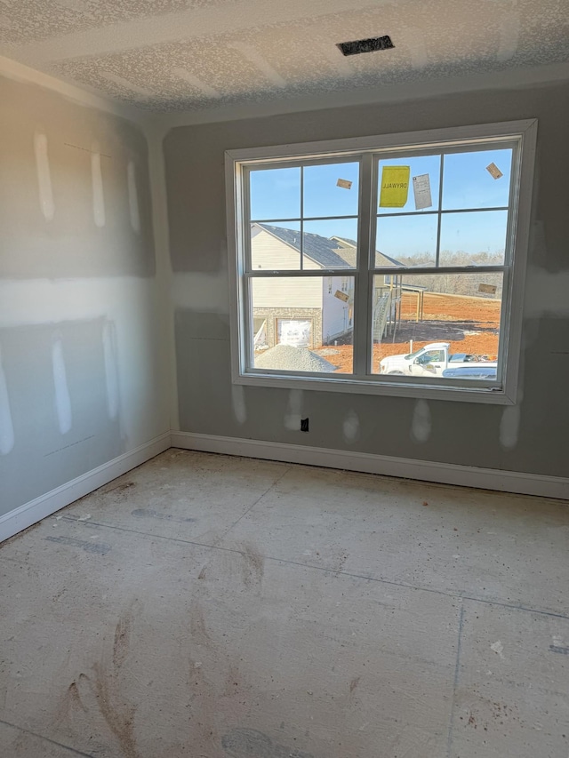
[[[224,151],[309,140],[539,119],[525,294],[522,399],[473,403],[232,387]],[[569,85],[469,92],[183,126],[164,140],[180,429],[409,459],[566,476],[569,428]],[[284,419],[301,411],[309,434]],[[413,435],[427,416],[425,441]]]

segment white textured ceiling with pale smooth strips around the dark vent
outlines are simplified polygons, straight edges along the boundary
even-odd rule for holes
[[[339,42],[394,50],[344,58]],[[569,0],[0,0],[0,54],[153,111],[569,60]]]

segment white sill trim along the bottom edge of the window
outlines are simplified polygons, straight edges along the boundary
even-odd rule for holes
[[[459,403],[489,403],[492,405],[515,405],[516,398],[505,389],[493,387],[426,385],[420,382],[386,381],[385,379],[341,379],[339,376],[287,376],[277,373],[246,373],[233,377],[233,383],[248,387],[280,387],[282,389],[306,389],[318,392],[341,392],[351,395],[387,395],[390,397],[411,397],[423,400],[445,400]]]

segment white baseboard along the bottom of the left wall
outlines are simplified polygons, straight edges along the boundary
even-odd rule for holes
[[[170,446],[170,432],[166,432],[164,435],[155,437],[150,442],[140,445],[130,452],[125,452],[118,458],[109,460],[108,463],[103,463],[102,466],[77,476],[71,482],[62,484],[55,490],[46,492],[39,498],[30,500],[23,506],[0,516],[0,542],[13,537],[14,534],[23,529],[28,529],[28,526],[54,514],[76,499],[83,498],[89,492],[112,482],[117,476],[126,474],[132,468],[154,458],[158,453],[168,450]]]

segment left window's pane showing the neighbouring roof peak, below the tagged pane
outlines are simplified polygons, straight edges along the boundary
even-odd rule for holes
[[[304,222],[305,268],[355,268],[357,219]]]

